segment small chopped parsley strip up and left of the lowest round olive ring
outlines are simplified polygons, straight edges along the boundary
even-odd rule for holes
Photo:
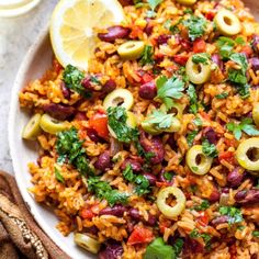
[[[150,192],[149,181],[143,174],[135,174],[132,170],[131,165],[127,165],[125,170],[123,170],[122,174],[125,180],[136,184],[135,192],[138,195],[143,195]]]

